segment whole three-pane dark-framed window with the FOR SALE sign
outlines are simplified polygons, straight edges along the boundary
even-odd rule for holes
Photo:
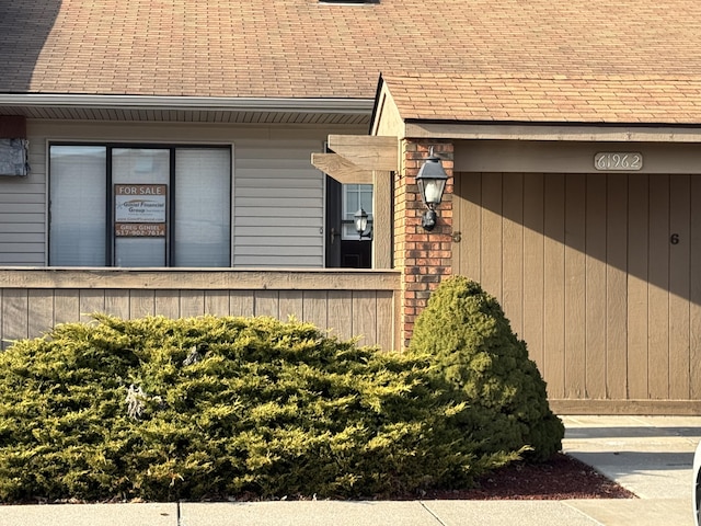
[[[231,149],[49,147],[53,266],[230,266]]]

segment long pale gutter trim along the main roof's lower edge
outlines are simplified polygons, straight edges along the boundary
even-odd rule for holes
[[[171,108],[370,114],[372,99],[272,99],[230,96],[88,95],[0,93],[0,105],[35,107]]]

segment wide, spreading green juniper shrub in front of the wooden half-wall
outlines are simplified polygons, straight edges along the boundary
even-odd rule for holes
[[[421,352],[268,318],[95,320],[0,353],[1,501],[411,494],[520,450],[475,442]]]

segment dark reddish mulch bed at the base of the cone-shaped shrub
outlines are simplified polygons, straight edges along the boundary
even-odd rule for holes
[[[565,500],[635,499],[635,495],[590,466],[564,454],[543,464],[516,462],[489,473],[476,488],[430,491],[423,499]]]

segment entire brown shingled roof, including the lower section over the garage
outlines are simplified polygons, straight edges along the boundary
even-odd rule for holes
[[[699,49],[698,0],[0,0],[5,94],[370,100],[387,73],[414,117],[688,123]]]

